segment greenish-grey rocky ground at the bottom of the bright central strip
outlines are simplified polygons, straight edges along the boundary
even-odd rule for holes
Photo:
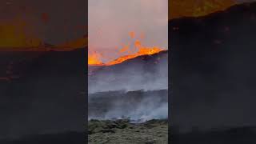
[[[133,123],[130,120],[90,120],[88,143],[93,144],[166,144],[168,121],[150,120]]]

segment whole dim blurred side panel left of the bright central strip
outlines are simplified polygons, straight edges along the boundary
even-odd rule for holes
[[[5,11],[0,14],[0,143],[86,143],[87,1],[0,5]],[[27,27],[19,30],[23,21]],[[65,26],[70,30],[64,34]],[[38,46],[31,44],[35,37],[17,39],[33,30]],[[72,44],[77,39],[82,44]]]

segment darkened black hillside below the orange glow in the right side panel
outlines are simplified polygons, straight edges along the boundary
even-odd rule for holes
[[[255,126],[256,3],[175,19],[169,30],[174,126]]]

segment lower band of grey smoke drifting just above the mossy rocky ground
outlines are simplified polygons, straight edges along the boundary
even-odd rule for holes
[[[91,96],[91,97],[90,97]],[[136,99],[134,99],[136,98]],[[104,106],[98,103],[105,103]],[[133,122],[168,118],[167,90],[89,94],[89,119],[130,118]]]

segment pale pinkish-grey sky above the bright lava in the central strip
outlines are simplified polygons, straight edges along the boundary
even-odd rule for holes
[[[168,0],[89,0],[89,50],[108,52],[145,35],[144,46],[168,46]],[[111,53],[112,54],[112,53]]]

